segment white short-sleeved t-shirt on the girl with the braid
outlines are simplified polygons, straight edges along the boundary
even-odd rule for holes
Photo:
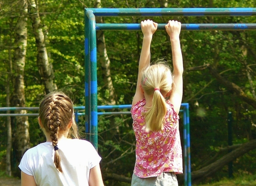
[[[23,155],[19,168],[32,175],[40,186],[89,185],[90,169],[98,165],[101,157],[89,141],[61,138],[58,141],[62,173],[54,166],[52,142],[30,148]]]

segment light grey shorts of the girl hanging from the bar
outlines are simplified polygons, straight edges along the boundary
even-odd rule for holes
[[[140,178],[132,174],[131,186],[178,186],[178,180],[172,172],[163,172],[157,177],[146,178]]]

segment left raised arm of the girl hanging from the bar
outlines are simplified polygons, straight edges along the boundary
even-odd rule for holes
[[[143,42],[142,42],[140,61],[139,61],[137,87],[136,87],[135,95],[132,100],[132,105],[134,105],[135,103],[139,102],[139,100],[144,98],[143,92],[141,91],[141,88],[140,88],[142,69],[145,66],[148,66],[150,64],[150,44],[151,44],[153,34],[157,29],[157,23],[151,20],[141,21],[140,25],[143,33]]]

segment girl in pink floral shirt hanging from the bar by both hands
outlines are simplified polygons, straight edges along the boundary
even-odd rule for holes
[[[132,100],[136,162],[132,186],[177,186],[182,173],[179,110],[182,99],[183,60],[180,47],[181,23],[169,21],[173,75],[163,62],[150,65],[150,44],[157,23],[141,22],[143,41],[139,73]]]

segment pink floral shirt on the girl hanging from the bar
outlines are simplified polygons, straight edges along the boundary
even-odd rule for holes
[[[136,138],[136,162],[134,174],[138,177],[158,176],[162,172],[182,173],[182,148],[179,133],[179,116],[169,100],[166,101],[164,129],[146,132],[144,112],[146,100],[132,106],[133,130]]]

